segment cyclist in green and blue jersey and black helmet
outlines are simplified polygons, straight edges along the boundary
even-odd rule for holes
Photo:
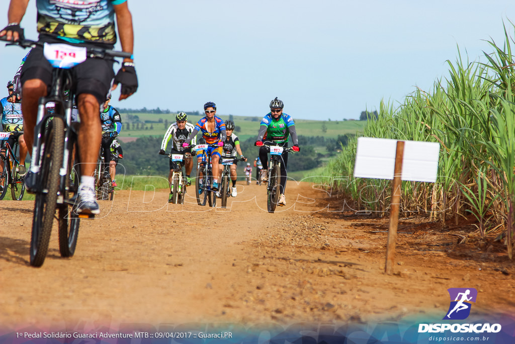
[[[291,116],[283,113],[283,107],[284,103],[277,99],[277,97],[270,102],[270,112],[263,117],[258,133],[258,140],[255,142],[256,146],[261,147],[259,150],[259,158],[263,164],[263,170],[261,171],[262,182],[268,181],[268,150],[263,147],[264,144],[286,148],[288,146],[288,138],[291,135],[291,141],[293,141],[293,147],[291,149],[294,152],[300,151],[295,122]],[[277,204],[283,206],[286,205],[284,190],[286,188],[288,152],[283,152],[281,157],[283,160],[283,163],[281,163],[281,193]]]

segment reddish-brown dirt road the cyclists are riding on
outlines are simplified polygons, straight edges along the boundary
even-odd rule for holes
[[[74,257],[60,257],[54,228],[41,268],[28,264],[33,202],[2,201],[0,324],[441,319],[451,287],[476,288],[474,310],[515,314],[515,268],[499,242],[485,246],[471,226],[401,220],[388,276],[387,219],[321,210],[336,201],[293,184],[276,214],[265,211],[264,186],[238,185],[225,210],[193,198],[168,205],[152,187],[118,191],[101,216],[82,220]]]

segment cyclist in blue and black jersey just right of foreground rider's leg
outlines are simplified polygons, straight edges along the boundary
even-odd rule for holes
[[[122,130],[122,116],[120,116],[118,110],[109,105],[110,101],[111,94],[108,94],[106,101],[100,106],[100,123],[102,126],[101,147],[104,149],[104,173],[109,173],[111,180],[114,181],[116,172],[114,172],[115,169],[111,169],[111,145],[114,138]]]

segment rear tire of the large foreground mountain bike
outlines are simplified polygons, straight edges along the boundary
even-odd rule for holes
[[[65,176],[65,200],[77,199],[80,182],[79,150],[76,137],[68,143],[68,167]],[[74,142],[73,142],[74,141]],[[75,157],[75,158],[74,158]],[[79,236],[79,222],[76,205],[64,202],[59,206],[59,252],[61,257],[72,257],[75,254],[77,238]]]

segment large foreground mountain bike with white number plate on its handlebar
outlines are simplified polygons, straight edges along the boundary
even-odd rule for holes
[[[87,58],[131,57],[130,53],[115,52],[99,47],[77,47],[48,44],[31,40],[19,40],[7,45],[24,48],[43,47],[48,62],[52,64],[52,87],[38,104],[37,124],[31,154],[30,172],[35,178],[34,215],[30,239],[30,265],[43,265],[56,209],[58,209],[59,251],[63,257],[75,253],[80,218],[92,215],[77,214],[77,196],[80,178],[80,163],[77,146],[78,123],[72,123],[73,93],[70,68]],[[67,100],[64,90],[70,90]],[[54,102],[53,112],[46,108]]]

